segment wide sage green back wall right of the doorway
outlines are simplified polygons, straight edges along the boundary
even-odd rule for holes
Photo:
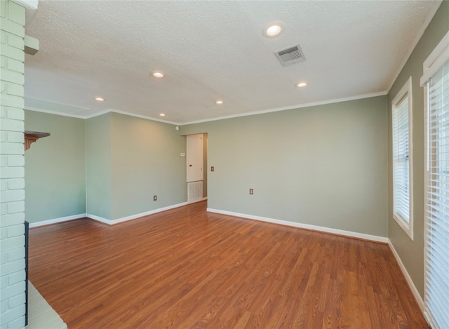
[[[208,208],[387,236],[387,120],[381,96],[180,131],[208,133]]]

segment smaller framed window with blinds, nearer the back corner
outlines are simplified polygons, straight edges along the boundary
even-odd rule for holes
[[[412,203],[412,81],[391,102],[393,122],[393,217],[413,239]]]

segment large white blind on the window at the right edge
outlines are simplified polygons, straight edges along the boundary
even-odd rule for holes
[[[449,60],[427,81],[425,313],[449,328]]]

